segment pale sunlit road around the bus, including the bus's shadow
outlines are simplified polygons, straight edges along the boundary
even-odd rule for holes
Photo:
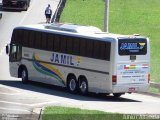
[[[48,3],[53,11],[59,0],[32,0],[29,10],[2,11],[0,20],[0,113],[30,114],[35,108],[46,105],[79,107],[106,112],[160,114],[160,98],[141,94],[126,94],[121,98],[89,94],[73,95],[65,89],[31,82],[22,84],[20,79],[10,77],[5,45],[9,43],[15,26],[44,23],[44,9]]]

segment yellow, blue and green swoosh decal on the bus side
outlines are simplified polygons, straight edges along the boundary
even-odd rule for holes
[[[56,69],[55,67],[53,67],[53,65],[48,65],[47,63],[42,63],[39,62],[41,61],[39,56],[36,54],[33,54],[33,66],[34,68],[45,75],[48,75],[50,77],[53,77],[55,79],[57,79],[61,84],[65,85],[65,81],[64,81],[64,77],[63,75],[59,72],[58,69]]]

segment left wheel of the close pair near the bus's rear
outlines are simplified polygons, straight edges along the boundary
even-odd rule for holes
[[[77,80],[76,77],[71,76],[68,79],[68,83],[67,83],[67,89],[70,93],[76,93],[77,92]]]

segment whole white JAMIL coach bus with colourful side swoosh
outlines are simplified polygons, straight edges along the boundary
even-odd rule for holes
[[[53,23],[19,26],[13,30],[10,74],[88,92],[120,97],[145,92],[150,85],[149,38],[102,32],[93,26]]]

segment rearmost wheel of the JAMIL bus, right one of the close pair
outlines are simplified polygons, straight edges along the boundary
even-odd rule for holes
[[[88,93],[88,83],[85,78],[82,78],[79,83],[79,91],[81,95],[86,95]]]

